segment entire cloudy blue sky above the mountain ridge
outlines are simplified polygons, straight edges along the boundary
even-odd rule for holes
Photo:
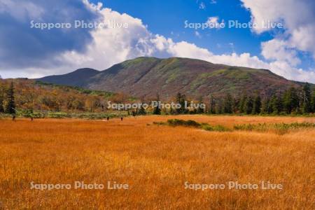
[[[140,56],[269,69],[315,83],[315,2],[0,0],[2,78],[104,70]]]

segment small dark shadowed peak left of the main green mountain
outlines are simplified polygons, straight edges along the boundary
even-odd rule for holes
[[[53,75],[53,76],[45,76],[38,80],[44,83],[53,83],[57,85],[69,85],[76,87],[85,87],[86,78],[90,78],[92,76],[97,75],[99,71],[95,69],[78,69],[71,73],[66,73],[63,75]]]

